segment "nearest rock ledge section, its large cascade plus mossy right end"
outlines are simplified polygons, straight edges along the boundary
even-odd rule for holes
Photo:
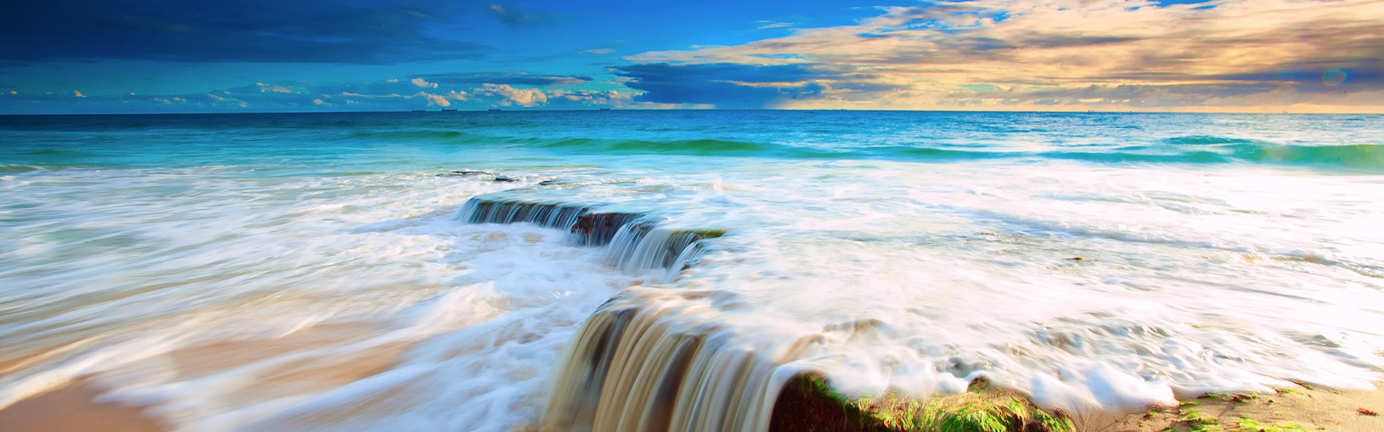
[[[1062,411],[985,379],[958,395],[841,395],[797,364],[821,335],[750,335],[673,306],[707,292],[632,288],[570,342],[544,432],[1071,432]],[[754,331],[757,332],[757,331]]]

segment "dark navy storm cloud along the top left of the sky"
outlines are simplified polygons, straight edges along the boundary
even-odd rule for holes
[[[0,15],[0,60],[388,64],[477,57],[432,36],[447,0],[17,0]]]

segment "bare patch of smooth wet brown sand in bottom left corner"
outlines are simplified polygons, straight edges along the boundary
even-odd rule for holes
[[[0,408],[4,432],[165,432],[144,407],[95,402],[101,390],[84,379]]]

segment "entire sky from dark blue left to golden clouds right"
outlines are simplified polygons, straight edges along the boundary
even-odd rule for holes
[[[12,0],[0,114],[1384,112],[1384,0]]]

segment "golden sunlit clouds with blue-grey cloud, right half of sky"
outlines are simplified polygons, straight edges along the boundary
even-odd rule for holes
[[[639,101],[721,108],[1384,112],[1378,0],[976,0],[880,11],[739,46],[631,55],[638,64],[616,73],[648,91]],[[775,82],[757,73],[772,68],[764,75]]]

